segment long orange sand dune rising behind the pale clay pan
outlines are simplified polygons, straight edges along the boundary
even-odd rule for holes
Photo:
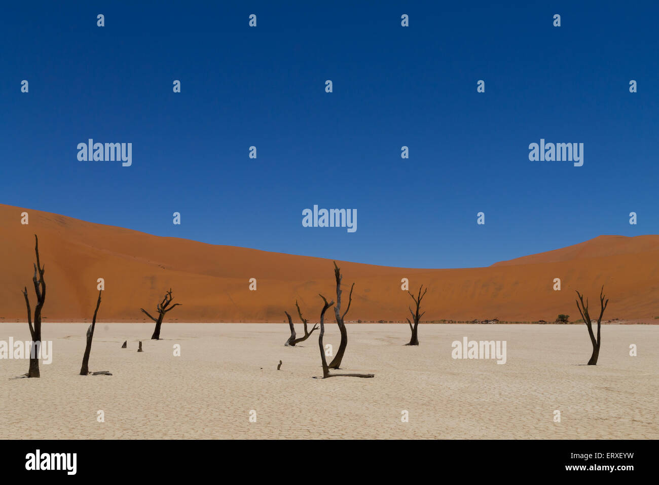
[[[23,211],[30,214],[28,225],[20,224]],[[97,278],[105,279],[100,321],[143,321],[140,307],[152,313],[170,286],[183,306],[167,313],[165,322],[283,322],[284,310],[295,314],[295,300],[316,321],[318,293],[335,298],[331,259],[162,238],[7,205],[0,205],[0,230],[0,322],[26,321],[24,286],[34,306],[34,234],[45,265],[45,321],[91,319]],[[602,284],[611,300],[606,318],[659,315],[656,235],[600,236],[486,268],[337,264],[345,289],[355,282],[350,321],[405,321],[411,299],[401,291],[404,277],[412,289],[430,287],[424,321],[554,321],[558,313],[577,319],[574,290],[585,292],[598,313]],[[257,279],[256,291],[248,290],[250,278]],[[552,289],[554,278],[561,278],[561,291]]]

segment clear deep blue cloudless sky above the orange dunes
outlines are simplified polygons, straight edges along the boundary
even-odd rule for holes
[[[402,267],[657,232],[655,2],[133,3],[3,5],[1,203]],[[88,138],[132,166],[79,162]],[[540,138],[583,167],[530,162]],[[303,228],[314,204],[357,232]]]

